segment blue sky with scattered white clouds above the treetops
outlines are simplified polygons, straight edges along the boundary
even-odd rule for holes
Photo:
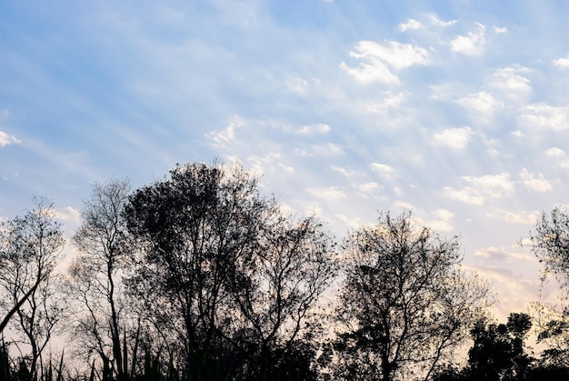
[[[569,180],[569,2],[0,0],[0,216],[241,163],[339,240],[381,211],[460,236],[524,312],[519,243]]]

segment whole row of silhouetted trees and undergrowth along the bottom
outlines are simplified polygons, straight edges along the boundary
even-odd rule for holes
[[[536,304],[496,322],[457,236],[380,213],[336,242],[258,188],[219,163],[176,165],[138,189],[95,184],[65,271],[50,201],[2,221],[0,380],[569,376],[569,310]],[[544,213],[531,241],[566,295],[569,216]]]

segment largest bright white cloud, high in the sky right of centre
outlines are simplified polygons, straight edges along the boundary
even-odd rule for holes
[[[424,48],[395,41],[387,41],[384,45],[374,41],[360,41],[355,45],[355,50],[350,55],[359,59],[360,65],[349,67],[343,62],[340,67],[364,84],[398,84],[399,78],[392,73],[390,67],[401,70],[412,65],[427,65],[429,62],[429,54]]]

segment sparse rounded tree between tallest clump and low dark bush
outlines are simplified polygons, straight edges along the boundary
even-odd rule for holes
[[[457,238],[415,229],[410,213],[359,228],[344,252],[337,376],[427,379],[487,306],[487,286],[459,268]]]

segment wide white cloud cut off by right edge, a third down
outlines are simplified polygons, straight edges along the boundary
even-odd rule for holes
[[[518,125],[526,128],[569,129],[567,107],[554,107],[544,103],[527,105],[517,118]]]

